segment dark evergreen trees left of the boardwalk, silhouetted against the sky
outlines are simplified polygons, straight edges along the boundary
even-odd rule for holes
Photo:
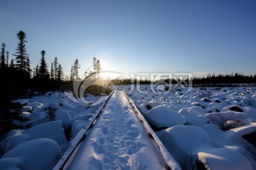
[[[6,44],[2,43],[0,53],[0,136],[11,129],[15,129],[17,122],[25,121],[20,116],[21,106],[12,101],[18,97],[29,98],[43,94],[46,91],[73,90],[73,81],[81,80],[78,75],[80,64],[78,59],[71,66],[70,76],[63,74],[63,67],[58,58],[53,62],[46,62],[46,51],[41,50],[41,62],[31,69],[30,57],[26,50],[26,33],[22,30],[17,33],[18,45],[10,61],[10,54],[6,51]],[[39,52],[38,52],[39,53]],[[100,60],[93,58],[92,70],[85,77],[93,79],[99,77],[101,70]],[[15,121],[14,121],[15,120]],[[16,124],[14,124],[16,122]]]

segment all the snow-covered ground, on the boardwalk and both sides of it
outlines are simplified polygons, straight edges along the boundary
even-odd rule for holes
[[[256,169],[256,149],[243,139],[256,131],[255,86],[112,89],[127,91],[182,169],[202,164],[207,169]],[[69,95],[48,92],[17,100],[23,104],[29,128],[6,134],[6,146],[14,148],[0,159],[0,169],[53,169],[100,108],[77,103]],[[88,101],[94,98],[87,95]],[[53,121],[50,108],[54,108]],[[68,169],[165,169],[159,149],[133,112],[124,94],[116,92]]]

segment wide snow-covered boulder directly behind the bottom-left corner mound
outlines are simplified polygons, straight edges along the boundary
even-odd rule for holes
[[[68,147],[69,143],[65,138],[65,134],[63,132],[62,123],[60,120],[53,121],[50,123],[43,123],[41,125],[37,125],[33,128],[25,130],[23,135],[29,135],[31,140],[38,138],[50,138],[58,142],[62,151]]]

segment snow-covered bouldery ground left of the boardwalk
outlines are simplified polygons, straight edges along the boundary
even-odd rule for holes
[[[6,134],[6,148],[13,149],[0,159],[1,170],[53,169],[69,147],[70,140],[101,106],[86,106],[70,100],[68,95],[48,92],[44,96],[15,101],[23,105],[22,115],[28,118],[24,125],[30,128],[11,130]],[[55,115],[52,121],[48,115],[50,108]]]

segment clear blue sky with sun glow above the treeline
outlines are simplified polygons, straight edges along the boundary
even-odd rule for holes
[[[31,67],[45,50],[65,74],[78,59],[82,75],[93,57],[124,75],[255,74],[255,9],[255,0],[1,0],[0,43],[14,54],[23,30]]]

